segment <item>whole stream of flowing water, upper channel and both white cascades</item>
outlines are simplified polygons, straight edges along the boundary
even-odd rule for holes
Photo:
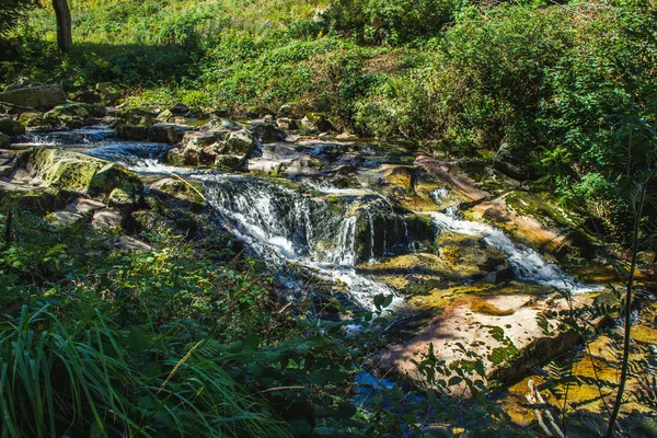
[[[218,170],[171,166],[163,162],[170,145],[117,140],[103,126],[28,134],[16,140],[23,146],[47,145],[81,151],[120,163],[145,176],[177,174],[194,180],[203,185],[208,203],[229,220],[234,235],[257,256],[278,266],[300,264],[321,278],[339,281],[351,300],[365,309],[374,309],[373,298],[378,295],[393,296],[391,309],[404,302],[399,291],[357,269],[360,263],[411,253],[416,247],[417,237],[408,232],[407,215],[391,212],[390,200],[369,187],[337,188],[316,181],[296,186]],[[312,194],[302,193],[299,187],[307,187]],[[433,195],[438,199],[445,196],[445,191]],[[428,215],[438,232],[480,237],[502,250],[518,279],[574,293],[600,289],[577,284],[557,265],[511,241],[502,230],[460,219],[456,209]]]

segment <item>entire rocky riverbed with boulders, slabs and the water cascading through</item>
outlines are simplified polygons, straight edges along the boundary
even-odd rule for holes
[[[472,163],[339,134],[316,114],[47,104],[0,103],[0,194],[22,193],[22,206],[55,227],[113,230],[136,251],[149,250],[129,234],[153,197],[183,203],[176,227],[193,231],[205,215],[273,266],[334,285],[345,302],[388,304],[390,345],[372,357],[382,374],[424,384],[417,364],[431,354],[447,368],[479,361],[487,384],[517,383],[579,341],[555,332],[557,311],[609,293],[591,275],[602,253],[581,219],[493,168],[483,172],[494,184],[481,184]],[[568,273],[566,260],[589,270]],[[654,262],[643,254],[646,290]],[[657,345],[654,333],[639,342]],[[452,391],[468,393],[464,383]]]

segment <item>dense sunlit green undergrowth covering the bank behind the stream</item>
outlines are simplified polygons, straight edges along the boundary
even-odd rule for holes
[[[653,126],[656,9],[466,0],[71,1],[76,51],[58,56],[49,8],[31,13],[0,81],[112,81],[134,106],[232,114],[320,111],[343,128],[451,157],[505,145],[556,195],[607,220],[624,118]],[[55,66],[55,68],[53,68]],[[643,160],[631,163],[635,168]],[[649,215],[653,215],[650,210]],[[601,230],[604,231],[604,230]]]

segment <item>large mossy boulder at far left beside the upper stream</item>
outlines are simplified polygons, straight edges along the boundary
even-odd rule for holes
[[[141,180],[127,169],[62,149],[34,148],[27,171],[44,185],[103,199],[120,188],[137,200],[143,191]]]

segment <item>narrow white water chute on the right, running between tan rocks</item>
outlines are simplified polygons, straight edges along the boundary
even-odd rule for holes
[[[575,278],[565,274],[554,263],[546,262],[534,250],[511,241],[502,230],[485,223],[459,219],[454,209],[447,214],[431,212],[430,216],[440,230],[480,237],[488,245],[505,252],[509,256],[509,264],[516,275],[522,280],[569,290],[573,293],[585,293],[601,289],[599,286],[578,284]]]

